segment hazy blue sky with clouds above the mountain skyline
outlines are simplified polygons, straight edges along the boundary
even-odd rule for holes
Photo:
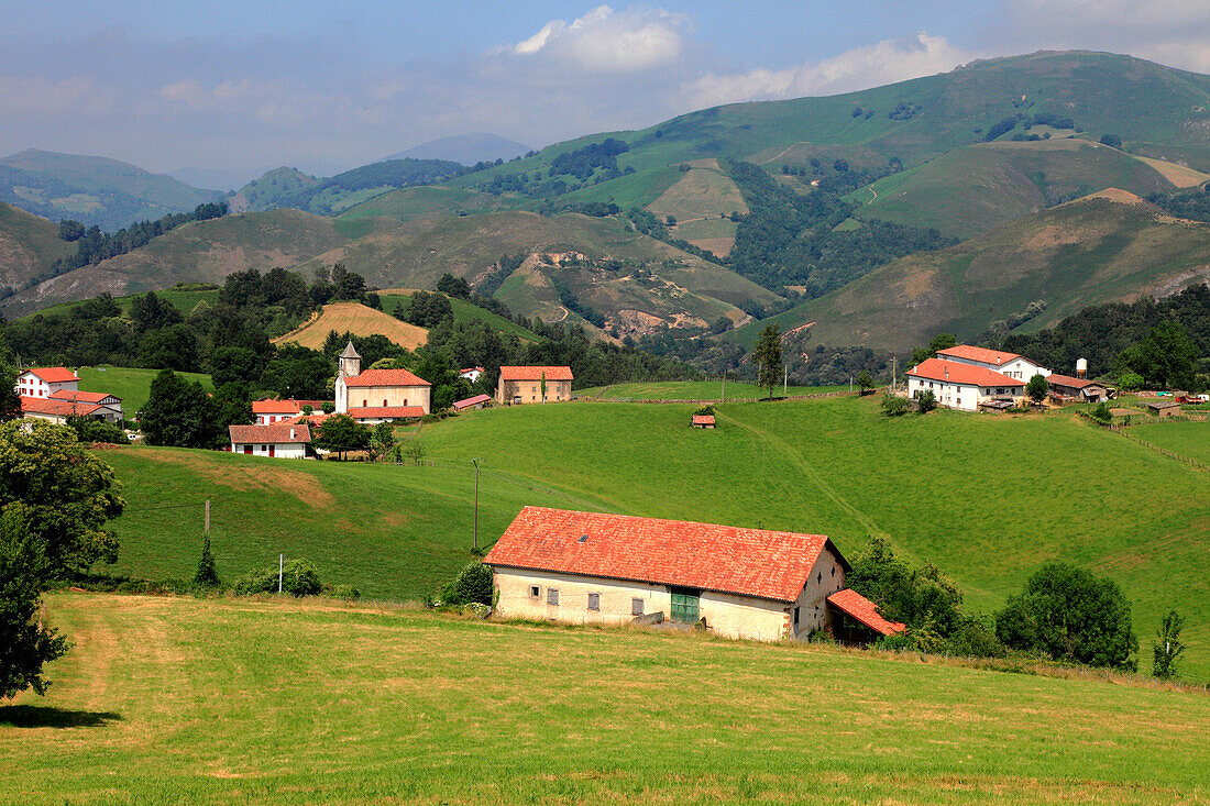
[[[0,5],[0,154],[204,169],[211,186],[469,132],[537,148],[1037,50],[1210,73],[1210,0]]]

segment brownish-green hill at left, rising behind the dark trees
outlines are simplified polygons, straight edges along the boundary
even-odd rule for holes
[[[19,316],[54,303],[157,290],[180,282],[215,282],[234,271],[293,266],[348,243],[330,218],[295,209],[244,213],[186,224],[117,258],[48,280],[2,303]],[[369,229],[369,228],[365,228]]]

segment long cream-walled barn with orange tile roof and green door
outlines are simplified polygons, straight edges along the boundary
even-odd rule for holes
[[[828,629],[849,610],[876,612],[855,592],[829,601],[849,565],[823,535],[525,507],[484,562],[505,618],[668,620],[780,640]]]

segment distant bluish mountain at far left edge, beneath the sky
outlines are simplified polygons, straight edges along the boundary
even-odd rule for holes
[[[0,157],[0,201],[56,221],[70,218],[106,231],[185,213],[217,196],[105,157],[36,149]]]

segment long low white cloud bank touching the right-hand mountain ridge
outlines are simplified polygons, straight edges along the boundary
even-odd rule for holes
[[[747,73],[707,74],[687,82],[685,94],[695,106],[830,96],[945,73],[976,57],[976,53],[950,45],[944,36],[921,33],[906,42],[885,40],[784,70],[759,68]]]

